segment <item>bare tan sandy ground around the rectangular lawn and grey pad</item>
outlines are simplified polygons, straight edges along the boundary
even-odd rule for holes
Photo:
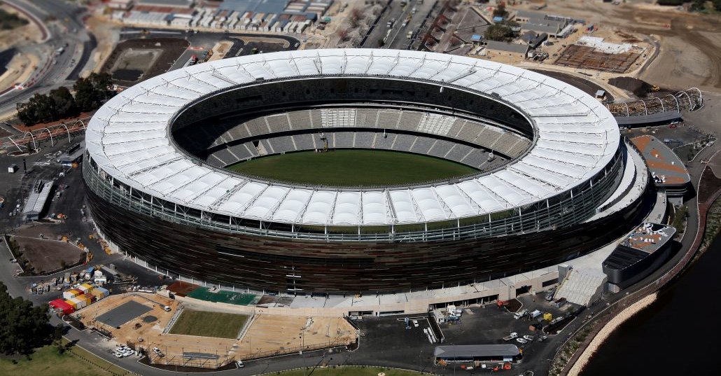
[[[102,323],[94,321],[94,318],[131,300],[147,307],[153,307],[153,310],[124,325],[120,325],[120,329],[105,328]],[[154,304],[154,302],[157,304]],[[172,309],[171,312],[165,312],[158,304],[168,305]],[[236,312],[231,308],[207,302],[202,302],[200,305],[194,305],[193,302],[182,304],[187,309]],[[97,325],[99,328],[111,331],[113,340],[117,343],[138,344],[138,338],[143,338],[142,343],[139,344],[145,349],[158,347],[164,353],[164,357],[154,357],[153,362],[161,364],[166,361],[169,364],[173,364],[175,361],[182,362],[183,352],[218,354],[219,357],[227,355],[236,357],[236,359],[249,359],[258,357],[259,354],[268,355],[298,351],[297,349],[291,349],[300,348],[303,344],[309,348],[319,348],[343,346],[355,342],[355,328],[342,318],[264,315],[262,312],[252,318],[252,322],[240,341],[236,338],[163,334],[165,326],[179,307],[180,302],[177,300],[170,300],[159,294],[127,293],[110,295],[110,297],[80,310],[79,313],[83,315],[81,320],[85,325]],[[143,318],[147,316],[154,316],[157,320],[152,323],[145,323]],[[136,323],[141,324],[137,329],[135,328]]]

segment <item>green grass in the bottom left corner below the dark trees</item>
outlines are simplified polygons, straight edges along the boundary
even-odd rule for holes
[[[54,346],[37,349],[30,355],[30,360],[20,358],[17,364],[10,359],[0,358],[0,375],[13,376],[112,376],[125,375],[128,372],[105,360],[90,354],[88,351],[74,346],[63,355],[58,354]],[[108,371],[112,371],[108,372]]]

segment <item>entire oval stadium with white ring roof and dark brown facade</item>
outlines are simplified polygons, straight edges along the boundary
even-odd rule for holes
[[[189,66],[113,97],[86,144],[102,236],[143,265],[234,289],[488,281],[589,253],[648,208],[645,183],[632,190],[647,172],[600,102],[542,74],[438,53]]]

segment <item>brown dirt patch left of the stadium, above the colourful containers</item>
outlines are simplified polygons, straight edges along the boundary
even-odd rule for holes
[[[35,268],[36,274],[45,274],[72,265],[85,259],[85,252],[75,245],[58,240],[44,240],[37,237],[14,236],[23,257]]]

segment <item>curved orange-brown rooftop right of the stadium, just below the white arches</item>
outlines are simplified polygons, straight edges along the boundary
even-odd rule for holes
[[[691,181],[681,159],[654,136],[634,137],[631,142],[640,150],[656,186],[685,185]]]

